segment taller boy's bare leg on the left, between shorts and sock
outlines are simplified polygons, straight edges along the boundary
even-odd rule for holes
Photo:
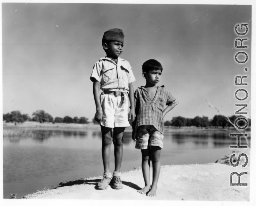
[[[110,147],[112,144],[112,128],[104,127],[101,125],[101,134],[102,134],[102,160],[103,167],[105,172],[109,172],[109,156],[110,156]]]

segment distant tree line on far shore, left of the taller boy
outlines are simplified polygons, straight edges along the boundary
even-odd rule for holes
[[[33,122],[52,122],[52,123],[77,123],[77,124],[87,124],[89,123],[89,119],[82,116],[78,118],[75,116],[74,118],[70,116],[64,116],[64,118],[53,117],[46,113],[44,110],[37,110],[33,112],[32,118],[28,114],[21,114],[20,111],[12,111],[11,113],[3,114],[3,121],[5,122],[14,122],[23,123],[25,121],[33,121]]]

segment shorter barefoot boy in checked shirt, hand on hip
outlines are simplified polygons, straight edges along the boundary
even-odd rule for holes
[[[178,104],[178,101],[164,88],[156,84],[161,79],[162,65],[150,59],[142,65],[142,75],[146,85],[139,87],[134,94],[136,118],[132,124],[132,139],[135,148],[142,153],[142,173],[145,187],[141,194],[155,196],[160,174],[160,154],[163,148],[163,118]],[[165,105],[167,105],[166,108]],[[150,161],[153,165],[153,182],[150,186]]]

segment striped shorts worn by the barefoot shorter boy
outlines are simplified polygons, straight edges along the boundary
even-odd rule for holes
[[[150,146],[163,148],[163,134],[153,125],[141,125],[137,129],[136,149],[144,150]]]

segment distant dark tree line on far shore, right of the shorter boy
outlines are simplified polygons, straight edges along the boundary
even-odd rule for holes
[[[229,119],[232,123],[235,123],[236,119],[240,116],[229,116]],[[249,126],[251,126],[251,120],[248,122]],[[190,127],[190,126],[196,126],[196,127],[230,127],[232,126],[230,122],[227,120],[227,118],[223,115],[215,115],[212,119],[208,119],[207,116],[196,116],[195,118],[185,118],[182,116],[173,117],[170,121],[164,122],[165,126],[173,126],[173,127]],[[237,126],[243,127],[245,126],[245,122],[243,120],[237,121]]]

